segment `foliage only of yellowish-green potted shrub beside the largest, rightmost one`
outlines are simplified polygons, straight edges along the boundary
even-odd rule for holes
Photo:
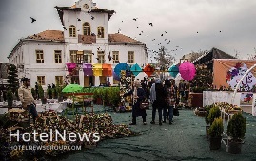
[[[210,137],[220,137],[224,131],[223,119],[215,118],[209,127],[208,134]]]

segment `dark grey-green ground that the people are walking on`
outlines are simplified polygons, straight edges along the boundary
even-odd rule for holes
[[[102,110],[101,107],[98,109]],[[114,123],[128,124],[131,113],[109,112]],[[256,116],[244,113],[247,133],[241,154],[226,152],[223,144],[220,150],[209,150],[206,138],[205,120],[195,116],[192,110],[180,110],[180,116],[174,116],[174,124],[151,125],[151,110],[147,111],[148,125],[137,119],[131,130],[140,136],[108,139],[97,148],[75,152],[60,160],[97,160],[97,161],[167,161],[167,160],[256,160]]]

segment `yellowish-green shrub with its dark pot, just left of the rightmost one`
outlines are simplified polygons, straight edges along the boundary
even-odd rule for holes
[[[208,130],[210,150],[218,150],[221,148],[223,131],[223,119],[220,117],[215,118]]]

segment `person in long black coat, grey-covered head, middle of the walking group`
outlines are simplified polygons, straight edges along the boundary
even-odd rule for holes
[[[152,103],[152,121],[151,124],[155,124],[155,113],[158,109],[159,125],[162,125],[162,112],[163,108],[167,106],[167,91],[165,91],[163,84],[159,78],[155,79],[155,83],[152,84],[150,89],[150,100]]]

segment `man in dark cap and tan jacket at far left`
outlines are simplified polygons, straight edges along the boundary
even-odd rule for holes
[[[29,110],[29,113],[33,116],[33,122],[35,123],[36,118],[38,117],[37,111],[36,111],[36,104],[34,101],[34,98],[31,93],[30,89],[30,79],[28,78],[22,78],[22,85],[18,89],[18,96],[20,98],[20,101],[22,103],[22,107],[25,110]]]

